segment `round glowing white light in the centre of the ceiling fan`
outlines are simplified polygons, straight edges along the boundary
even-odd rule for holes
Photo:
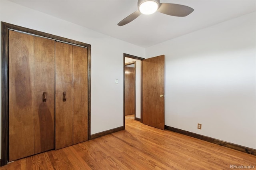
[[[138,8],[142,14],[150,15],[156,12],[159,7],[159,0],[139,0]]]

